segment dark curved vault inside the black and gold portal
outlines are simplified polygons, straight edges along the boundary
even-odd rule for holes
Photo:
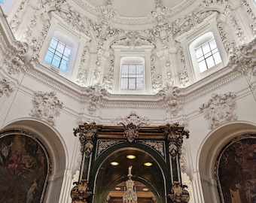
[[[135,155],[136,159],[127,159],[126,155],[129,154]],[[113,161],[118,162],[119,165],[111,165],[110,163]],[[147,167],[144,165],[145,162],[152,162],[153,165]],[[105,202],[109,192],[113,192],[117,185],[123,189],[122,185],[128,179],[127,172],[130,165],[133,166],[132,180],[139,182],[139,185],[144,184],[154,194],[157,202],[162,202],[160,199],[164,196],[165,181],[160,166],[144,150],[131,147],[114,151],[99,166],[94,189],[94,202]],[[121,192],[119,193],[121,194]]]

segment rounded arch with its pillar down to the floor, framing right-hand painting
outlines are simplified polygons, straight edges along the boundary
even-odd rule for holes
[[[255,132],[255,123],[235,121],[219,126],[206,136],[197,156],[197,171],[200,172],[202,192],[206,202],[220,202],[214,175],[215,162],[223,147],[238,135]]]

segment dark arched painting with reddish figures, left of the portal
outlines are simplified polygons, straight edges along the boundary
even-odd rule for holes
[[[35,136],[0,134],[0,202],[42,202],[49,171],[47,152]]]

